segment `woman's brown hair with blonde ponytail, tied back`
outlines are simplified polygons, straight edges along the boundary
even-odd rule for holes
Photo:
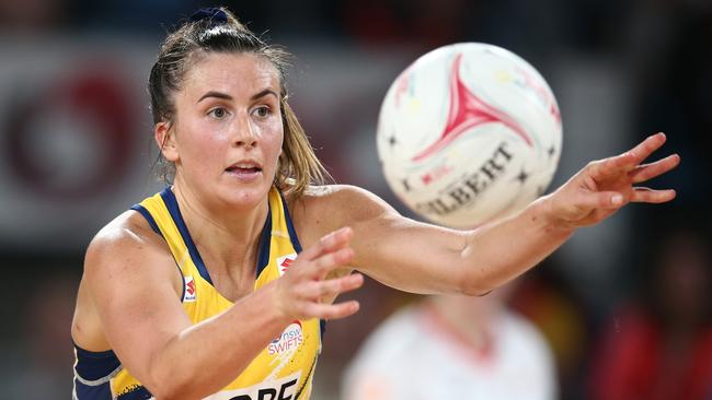
[[[198,52],[249,52],[262,56],[272,62],[279,75],[284,143],[275,185],[285,196],[294,198],[303,195],[309,185],[323,185],[333,180],[314,154],[303,128],[287,103],[289,92],[285,71],[292,56],[285,49],[264,42],[225,8],[204,9],[196,14],[165,38],[151,68],[148,90],[153,123],[173,123],[176,113],[175,93],[181,90],[185,73],[194,64]],[[164,181],[173,180],[175,166],[160,154],[157,167]]]

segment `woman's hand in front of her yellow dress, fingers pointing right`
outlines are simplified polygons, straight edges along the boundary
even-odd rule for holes
[[[360,273],[326,279],[330,272],[353,260],[354,250],[348,246],[352,236],[353,231],[343,227],[322,237],[305,249],[287,272],[274,281],[275,305],[283,317],[289,320],[337,319],[358,311],[356,301],[322,303],[324,297],[335,297],[364,283]]]

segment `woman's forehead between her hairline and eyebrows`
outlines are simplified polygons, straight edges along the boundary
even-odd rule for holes
[[[252,54],[209,52],[196,57],[183,81],[183,95],[217,91],[236,98],[272,89],[279,93],[279,75],[265,57]]]

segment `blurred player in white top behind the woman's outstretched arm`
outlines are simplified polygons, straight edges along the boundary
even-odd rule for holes
[[[395,313],[348,366],[343,400],[555,399],[551,351],[507,309],[509,291],[433,296]]]

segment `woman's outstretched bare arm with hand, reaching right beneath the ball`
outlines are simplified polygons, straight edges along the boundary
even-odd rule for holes
[[[674,190],[634,185],[679,163],[677,154],[642,164],[665,142],[647,138],[629,152],[592,162],[553,193],[473,231],[401,216],[377,196],[354,187],[334,193],[341,223],[352,226],[355,269],[415,293],[483,294],[520,275],[561,246],[577,227],[596,224],[629,202],[659,203]]]

